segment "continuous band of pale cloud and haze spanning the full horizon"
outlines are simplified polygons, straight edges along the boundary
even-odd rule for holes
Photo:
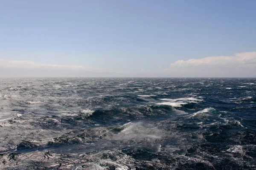
[[[113,66],[114,67],[114,66]],[[169,68],[109,72],[80,65],[0,59],[0,77],[256,77],[256,51],[177,60]]]

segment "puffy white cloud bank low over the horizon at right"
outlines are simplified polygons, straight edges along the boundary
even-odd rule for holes
[[[164,70],[168,77],[256,77],[256,51],[233,56],[177,60]]]

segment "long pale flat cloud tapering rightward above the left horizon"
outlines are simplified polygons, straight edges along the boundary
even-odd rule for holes
[[[118,74],[80,65],[0,59],[0,77],[118,77]]]

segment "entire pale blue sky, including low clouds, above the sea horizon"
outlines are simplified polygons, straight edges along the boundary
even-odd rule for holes
[[[256,77],[255,0],[0,4],[0,77]]]

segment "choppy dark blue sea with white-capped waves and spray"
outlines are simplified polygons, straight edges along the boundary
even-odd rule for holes
[[[256,79],[0,79],[0,169],[256,169]]]

